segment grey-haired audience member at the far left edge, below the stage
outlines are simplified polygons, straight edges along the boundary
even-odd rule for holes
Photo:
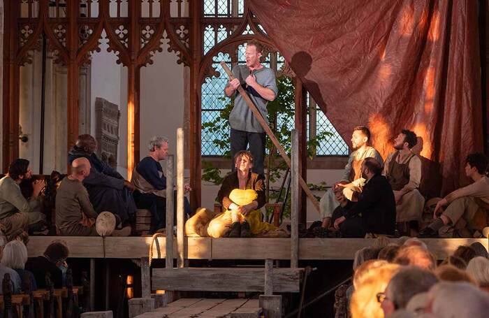
[[[29,277],[31,284],[31,290],[37,290],[36,278],[34,274],[25,270],[25,263],[27,262],[27,247],[20,240],[11,240],[8,242],[1,254],[1,264],[8,268],[12,268],[19,274],[22,284],[24,284],[26,276]]]

